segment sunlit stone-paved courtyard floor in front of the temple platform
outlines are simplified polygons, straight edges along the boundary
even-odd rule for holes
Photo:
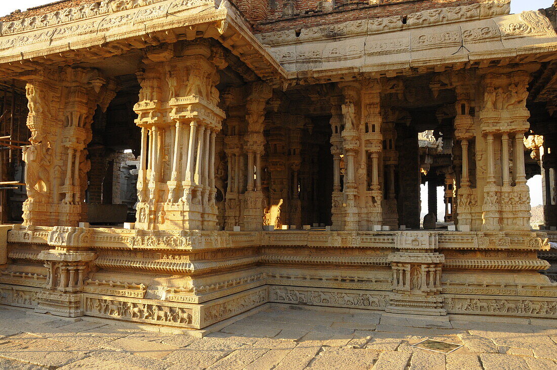
[[[267,307],[196,338],[0,306],[0,368],[548,370],[557,369],[556,321]],[[426,338],[463,346],[411,347]]]

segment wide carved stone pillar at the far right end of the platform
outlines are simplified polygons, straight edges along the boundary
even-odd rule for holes
[[[526,108],[528,81],[525,71],[488,73],[482,79],[480,128],[481,144],[486,148],[482,230],[530,230],[530,195],[524,171],[524,132],[530,116]]]

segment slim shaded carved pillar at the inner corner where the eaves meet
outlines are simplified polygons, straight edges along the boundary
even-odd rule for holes
[[[265,200],[261,189],[261,155],[265,146],[263,121],[265,121],[265,105],[272,95],[271,86],[265,82],[253,82],[249,86],[246,103],[247,134],[244,136],[247,151],[247,188],[243,223],[245,230],[261,230],[263,225],[263,209]]]

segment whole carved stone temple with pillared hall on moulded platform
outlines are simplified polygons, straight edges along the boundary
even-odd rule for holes
[[[268,303],[555,318],[555,6],[509,12],[62,0],[0,18],[0,304],[192,329]]]

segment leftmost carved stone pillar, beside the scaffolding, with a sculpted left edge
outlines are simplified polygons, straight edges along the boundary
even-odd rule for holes
[[[28,199],[23,225],[77,226],[84,214],[91,122],[106,110],[116,83],[98,71],[65,67],[26,77],[31,145],[23,147]]]

